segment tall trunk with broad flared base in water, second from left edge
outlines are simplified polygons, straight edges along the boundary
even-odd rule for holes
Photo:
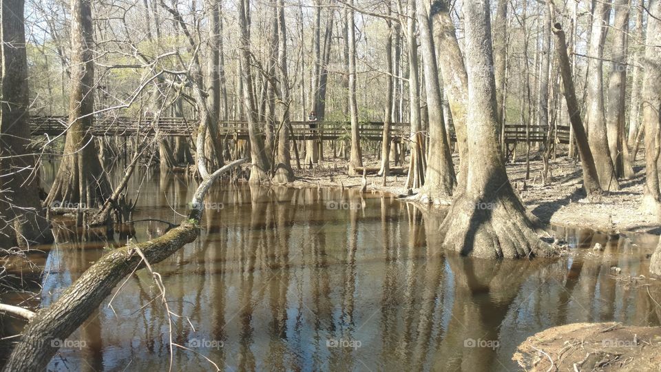
[[[110,196],[107,174],[92,141],[94,59],[91,0],[71,0],[71,85],[64,155],[45,205],[56,200],[95,207]]]

